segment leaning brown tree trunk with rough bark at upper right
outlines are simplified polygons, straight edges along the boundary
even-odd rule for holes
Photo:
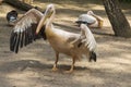
[[[106,13],[116,36],[131,37],[131,27],[122,13],[118,0],[103,0]]]

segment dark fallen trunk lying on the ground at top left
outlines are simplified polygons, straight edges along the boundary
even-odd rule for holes
[[[43,10],[40,8],[33,7],[31,4],[24,3],[24,2],[19,1],[19,0],[3,0],[3,1],[5,3],[9,3],[9,4],[11,4],[11,5],[13,5],[13,7],[15,7],[15,8],[20,9],[20,10],[23,10],[23,11],[28,11],[28,10],[31,10],[33,8],[37,8],[37,10],[43,12]]]

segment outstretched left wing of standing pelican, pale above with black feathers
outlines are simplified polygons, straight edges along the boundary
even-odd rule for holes
[[[10,37],[10,50],[14,51],[15,53],[19,52],[19,48],[22,48],[35,39],[40,38],[39,35],[43,34],[44,37],[44,29],[39,32],[36,36],[36,27],[44,14],[35,9],[29,10],[26,12],[15,24],[11,37]],[[43,27],[45,28],[45,27]]]

